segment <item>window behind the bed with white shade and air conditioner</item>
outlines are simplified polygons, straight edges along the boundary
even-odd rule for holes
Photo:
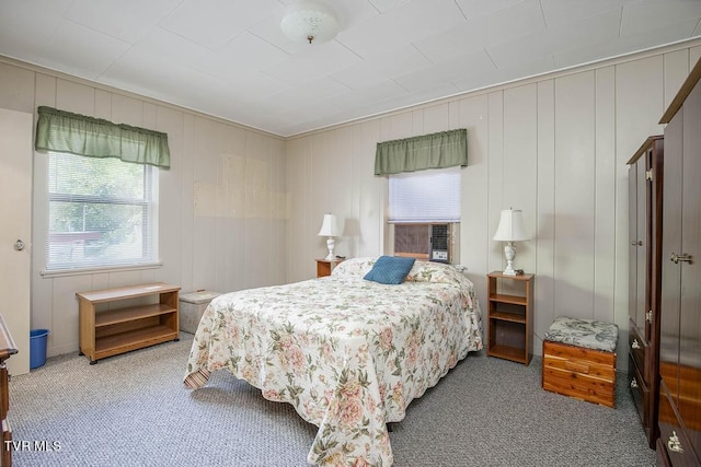
[[[390,175],[394,255],[451,262],[460,222],[460,167]]]

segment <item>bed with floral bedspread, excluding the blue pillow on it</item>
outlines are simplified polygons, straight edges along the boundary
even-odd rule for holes
[[[329,277],[219,295],[195,334],[185,386],[226,369],[319,427],[310,464],[392,465],[387,423],[482,349],[482,320],[455,267],[416,261],[402,283],[384,284],[364,279],[376,262],[352,258]]]

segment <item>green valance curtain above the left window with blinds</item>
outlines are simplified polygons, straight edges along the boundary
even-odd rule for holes
[[[38,113],[37,150],[171,166],[166,133],[45,106],[41,106]]]

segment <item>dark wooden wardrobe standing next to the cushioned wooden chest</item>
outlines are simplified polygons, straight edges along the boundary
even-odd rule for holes
[[[651,448],[659,435],[659,292],[664,138],[650,137],[629,164],[628,383]]]

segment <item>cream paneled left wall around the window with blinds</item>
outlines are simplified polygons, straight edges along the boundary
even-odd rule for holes
[[[78,291],[147,281],[171,282],[183,293],[285,282],[281,139],[0,59],[0,107],[36,114],[39,105],[166,132],[171,150],[171,168],[159,173],[161,266],[54,276],[44,273],[46,156],[34,154],[32,327],[50,329],[48,355],[78,350]]]

